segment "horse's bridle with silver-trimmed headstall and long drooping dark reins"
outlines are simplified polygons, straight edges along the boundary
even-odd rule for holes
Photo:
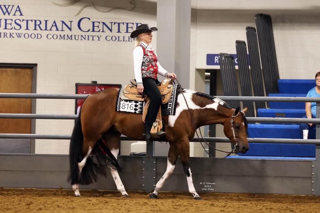
[[[192,119],[192,116],[191,116],[191,112],[190,112],[190,108],[189,108],[189,106],[188,106],[188,103],[187,103],[186,98],[184,97],[184,94],[183,94],[181,85],[180,85],[178,79],[175,79],[175,80],[177,80],[177,83],[178,83],[178,86],[179,86],[179,88],[180,88],[181,94],[182,94],[182,96],[183,96],[183,98],[184,98],[184,100],[185,100],[185,102],[186,102],[186,105],[187,105],[187,107],[188,107],[188,112],[189,112],[189,115],[190,115],[190,119],[191,119],[192,126],[193,126],[193,128],[195,128],[197,138],[198,138],[198,140],[199,140],[202,148],[204,149],[204,151],[205,151],[210,157],[212,157],[212,158],[214,158],[214,159],[224,159],[224,158],[230,156],[230,154],[238,153],[238,151],[236,151],[236,148],[238,147],[238,142],[237,142],[235,130],[234,130],[234,127],[233,127],[233,122],[234,122],[233,118],[236,117],[236,116],[238,116],[239,113],[240,113],[240,111],[239,111],[238,114],[236,114],[236,115],[235,115],[235,112],[236,112],[236,111],[233,111],[233,114],[232,114],[231,120],[230,120],[231,130],[232,130],[232,134],[233,134],[233,139],[235,140],[235,143],[236,143],[234,149],[232,149],[230,152],[222,151],[222,150],[219,150],[219,149],[216,149],[216,148],[210,146],[210,144],[209,144],[207,141],[204,140],[204,138],[203,138],[203,136],[202,136],[202,133],[201,133],[201,130],[200,130],[200,128],[198,128],[198,129],[199,129],[199,132],[200,132],[200,135],[201,135],[201,138],[202,138],[202,140],[203,140],[204,143],[206,143],[209,147],[211,147],[211,148],[214,149],[214,150],[217,150],[217,151],[219,151],[219,152],[227,153],[226,156],[224,156],[223,158],[213,157],[213,156],[212,156],[211,154],[209,154],[208,151],[204,148],[204,146],[203,146],[203,144],[202,144],[202,142],[201,142],[201,140],[200,140],[200,138],[199,138],[199,135],[198,135],[198,132],[197,132],[197,129],[196,129],[196,125],[195,125],[195,123],[193,122],[193,119]],[[173,83],[175,83],[174,80],[173,80]]]

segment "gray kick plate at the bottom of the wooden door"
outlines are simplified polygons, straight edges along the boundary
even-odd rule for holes
[[[30,139],[0,139],[0,153],[30,153]]]

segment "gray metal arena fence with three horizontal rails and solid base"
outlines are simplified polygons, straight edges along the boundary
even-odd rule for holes
[[[31,99],[85,99],[87,95],[57,95],[57,94],[22,94],[22,93],[0,93],[0,98],[31,98]],[[206,158],[191,158],[191,162],[195,162],[197,164],[197,167],[199,167],[199,164],[205,164],[206,168],[210,170],[210,172],[205,172],[205,168],[203,170],[195,169],[195,172],[193,172],[194,178],[201,179],[201,178],[209,178],[209,182],[212,180],[212,178],[215,178],[216,180],[220,181],[221,183],[224,183],[226,179],[229,179],[229,181],[235,181],[237,182],[238,179],[243,178],[243,180],[251,179],[253,187],[245,188],[244,186],[217,186],[217,189],[214,190],[214,192],[252,192],[252,193],[289,193],[289,194],[313,194],[313,195],[320,195],[320,98],[303,98],[303,97],[241,97],[241,96],[217,96],[218,98],[228,101],[228,100],[238,100],[238,101],[281,101],[281,102],[316,102],[317,103],[317,118],[316,119],[300,119],[300,118],[255,118],[255,117],[248,117],[247,120],[249,122],[272,122],[272,123],[316,123],[316,139],[315,140],[302,140],[302,139],[278,139],[278,138],[248,138],[249,143],[289,143],[289,144],[315,144],[316,145],[316,158],[313,159],[307,159],[307,160],[299,160],[299,159],[289,159],[289,160],[277,160],[280,162],[280,164],[273,164],[275,159],[267,160],[264,159],[263,163],[261,162],[261,159],[251,159],[253,161],[250,161],[250,159],[241,159],[240,161],[236,161],[237,158],[227,158],[227,160],[218,160],[220,163],[217,164],[217,161],[213,161],[212,159],[206,159]],[[28,118],[28,119],[76,119],[77,115],[53,115],[53,114],[0,114],[0,118],[12,118],[12,119],[21,119],[21,118]],[[0,138],[30,138],[30,139],[70,139],[70,135],[43,135],[43,134],[0,134]],[[225,142],[230,143],[228,138],[204,138],[207,142]],[[127,141],[134,141],[137,139],[134,138],[128,138],[125,136],[121,136],[121,140],[127,140]],[[197,138],[193,138],[190,140],[190,142],[199,142]],[[48,160],[49,156],[55,156],[56,161],[61,161],[60,158],[67,158],[65,155],[37,155],[37,154],[0,154],[3,158],[3,161],[15,161],[20,159],[21,156],[24,156],[24,160],[28,162],[28,159],[34,159],[36,158],[39,161],[40,159],[45,161],[48,161],[47,164],[50,164],[52,167],[54,167],[52,160]],[[33,158],[32,158],[33,156]],[[44,156],[45,157],[44,159]],[[126,167],[132,167],[132,164],[130,164],[130,159],[132,160],[132,157],[124,157],[120,156],[119,160],[124,161],[127,163]],[[142,159],[141,165],[137,162],[136,165],[138,166],[138,170],[140,170],[140,173],[129,173],[131,174],[130,177],[137,178],[137,183],[141,183],[140,186],[137,186],[136,183],[130,183],[132,182],[132,178],[127,179],[127,184],[129,185],[129,189],[133,190],[145,190],[146,192],[150,192],[155,184],[156,181],[159,180],[164,173],[163,168],[161,166],[164,166],[165,169],[165,163],[166,159],[162,157],[156,157],[154,156],[154,144],[149,143],[147,144],[147,155],[143,157],[138,157],[137,159]],[[209,161],[208,161],[209,160]],[[239,160],[239,159],[237,159]],[[140,160],[138,160],[140,161]],[[225,167],[219,167],[221,166],[221,161],[225,162],[222,163]],[[253,164],[252,164],[253,163]],[[19,162],[17,162],[19,164]],[[10,164],[9,162],[7,164],[2,164],[6,166],[0,165],[0,173],[7,174],[8,176],[6,178],[1,178],[0,181],[4,183],[2,185],[3,187],[35,187],[35,188],[41,188],[41,187],[55,187],[50,186],[45,183],[35,184],[34,180],[30,180],[30,183],[28,181],[25,181],[26,185],[21,185],[21,183],[18,184],[18,179],[12,178],[13,174],[16,174],[17,172],[22,172],[22,167],[17,166],[17,164]],[[64,162],[64,164],[66,164]],[[263,170],[250,170],[244,172],[243,170],[239,170],[237,168],[243,168],[246,167],[247,164],[254,165],[257,167],[260,166],[266,166],[269,165],[267,168],[267,171]],[[11,165],[9,168],[8,165]],[[205,167],[204,166],[204,167]],[[223,171],[213,171],[210,166],[213,166],[215,168],[220,168]],[[235,167],[236,166],[236,167]],[[30,167],[30,165],[25,165],[24,168]],[[68,172],[68,165],[63,169],[63,171],[58,170],[59,172],[62,172],[62,177],[65,177]],[[178,166],[179,167],[179,166]],[[228,173],[228,171],[225,171],[225,168],[235,168],[234,171],[236,171],[236,174]],[[13,169],[12,169],[13,168]],[[253,167],[254,168],[254,167]],[[288,168],[292,168],[292,170],[298,170],[297,173],[283,173],[283,170],[286,170]],[[299,170],[300,168],[300,170]],[[306,168],[306,169],[304,169]],[[192,168],[191,168],[192,169]],[[26,172],[25,170],[23,170]],[[41,170],[42,171],[42,170]],[[57,172],[56,170],[53,170],[54,172]],[[9,172],[9,173],[8,173]],[[12,173],[13,172],[13,173]],[[38,172],[37,169],[35,169],[32,165],[31,168],[28,170],[28,172]],[[51,172],[50,174],[46,174],[48,177],[50,175],[58,175],[58,173],[52,173],[52,170],[48,170],[45,172]],[[142,173],[142,174],[141,174]],[[248,173],[250,173],[248,175]],[[34,173],[32,173],[34,174]],[[40,173],[36,173],[40,174]],[[169,181],[168,184],[166,184],[164,187],[164,190],[169,191],[185,191],[188,187],[187,185],[180,185],[177,186],[177,181],[182,181],[184,174],[178,172],[177,174],[174,174],[174,180]],[[53,178],[54,176],[52,176]],[[228,177],[228,178],[226,178]],[[43,178],[41,175],[38,177]],[[210,179],[211,178],[211,179]],[[261,179],[262,178],[262,179]],[[59,179],[59,178],[58,178]],[[124,177],[125,179],[125,177]],[[181,179],[181,180],[180,180]],[[261,187],[261,180],[265,180],[265,184],[263,187]],[[64,180],[65,181],[65,180]],[[300,186],[292,187],[288,189],[287,186],[289,181],[289,185],[292,183],[300,183]],[[318,184],[319,181],[319,184]],[[184,181],[186,182],[186,181]],[[196,182],[196,181],[194,181]],[[200,181],[199,181],[200,182]],[[273,189],[270,189],[270,185],[275,185]],[[138,184],[139,185],[139,184]],[[228,185],[226,183],[226,185]],[[240,184],[241,185],[241,184]],[[254,185],[257,186],[257,188],[254,188]],[[64,187],[67,187],[66,184]],[[95,188],[100,188],[101,186],[95,185]],[[94,188],[93,187],[93,188]],[[114,189],[114,185],[108,185],[108,189]],[[198,191],[207,192],[201,189],[201,185],[197,186],[195,185],[196,189]],[[90,187],[89,187],[90,188]]]

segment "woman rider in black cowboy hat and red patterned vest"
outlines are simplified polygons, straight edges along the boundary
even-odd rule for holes
[[[149,142],[151,137],[160,138],[165,134],[163,131],[150,134],[152,124],[156,120],[161,105],[161,94],[156,85],[159,83],[157,75],[159,73],[172,80],[177,77],[174,73],[168,73],[159,64],[157,54],[151,47],[152,32],[157,30],[156,27],[149,28],[148,24],[142,24],[130,35],[131,38],[135,38],[133,63],[138,92],[146,94],[150,99],[145,122],[145,138],[147,142]]]

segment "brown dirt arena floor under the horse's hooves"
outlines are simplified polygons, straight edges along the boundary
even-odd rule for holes
[[[319,212],[320,197],[297,195],[200,193],[159,194],[151,200],[143,192],[121,198],[117,192],[81,190],[0,188],[0,212]]]

